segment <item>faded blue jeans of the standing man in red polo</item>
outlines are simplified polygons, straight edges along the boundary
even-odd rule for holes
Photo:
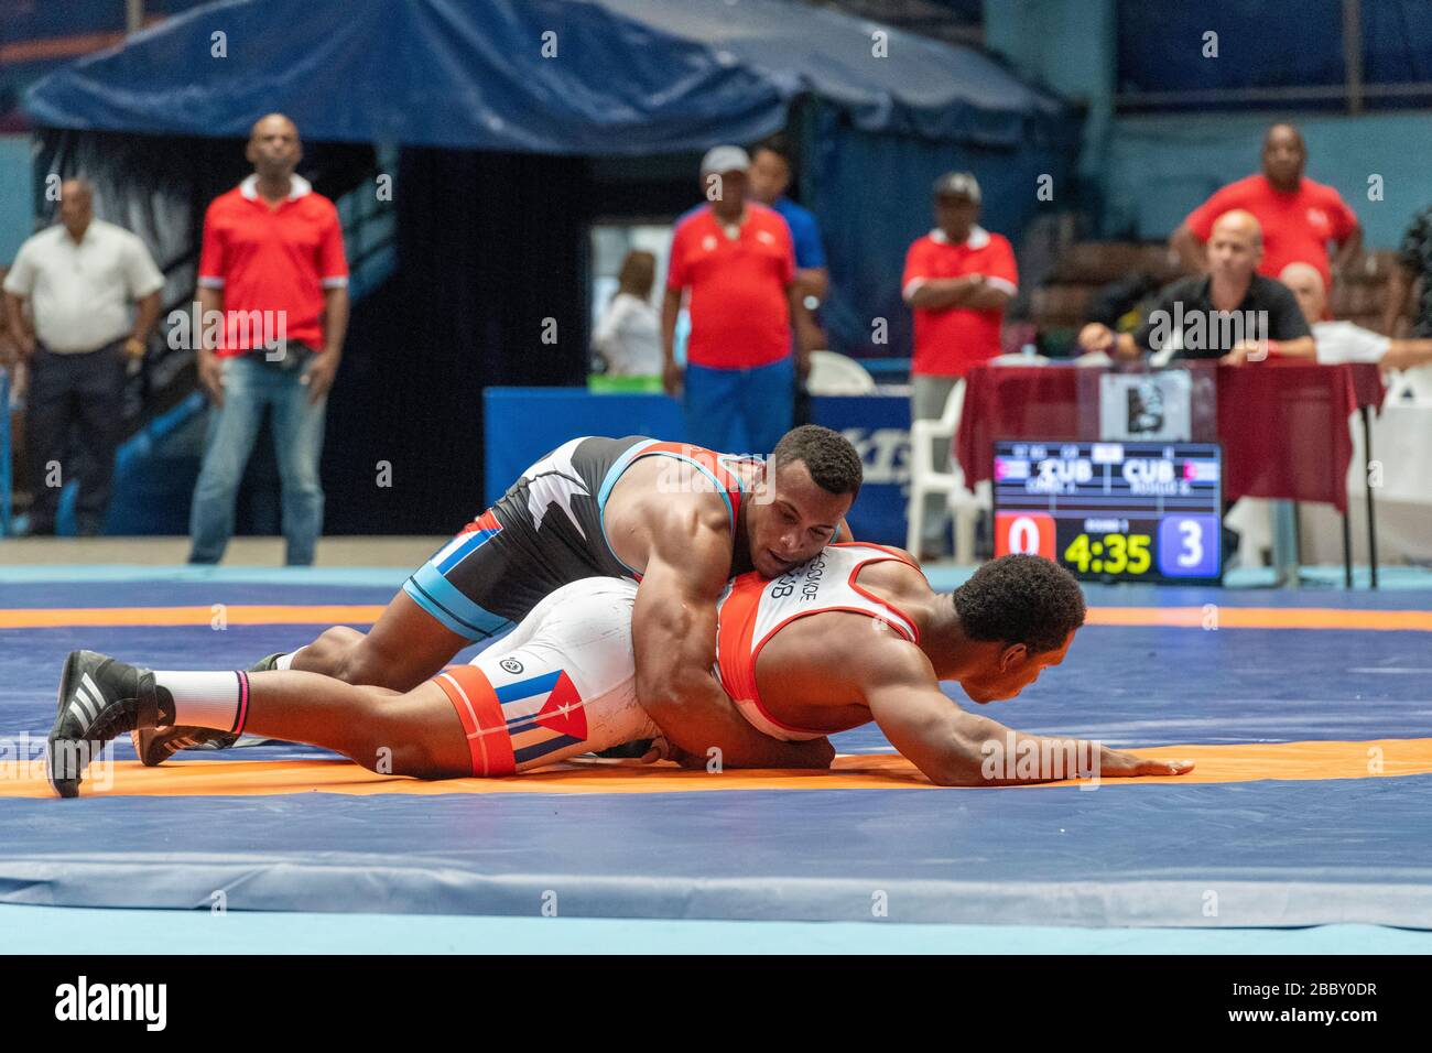
[[[314,547],[324,529],[318,457],[324,448],[328,397],[309,405],[308,385],[301,378],[312,352],[298,348],[295,357],[298,362],[286,368],[255,355],[223,360],[223,405],[209,410],[203,467],[189,513],[190,563],[218,563],[223,557],[233,536],[233,503],[265,407],[284,487],[285,562],[289,566],[314,562]]]

